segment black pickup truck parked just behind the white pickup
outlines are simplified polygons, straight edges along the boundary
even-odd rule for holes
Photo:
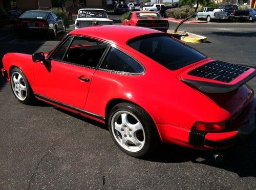
[[[218,9],[223,9],[223,12],[229,13],[229,18],[232,20],[248,20],[248,10],[238,10],[237,5],[221,5]]]

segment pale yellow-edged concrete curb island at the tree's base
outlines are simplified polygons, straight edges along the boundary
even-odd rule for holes
[[[167,30],[168,34],[172,35],[178,35],[180,36],[180,40],[184,42],[190,42],[190,43],[204,43],[207,41],[207,38],[205,36],[200,36],[197,34],[189,33],[189,32],[181,32],[177,31],[177,33],[174,33],[172,30]]]

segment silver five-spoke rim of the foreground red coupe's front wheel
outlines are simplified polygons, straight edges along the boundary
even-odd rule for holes
[[[11,76],[12,90],[19,100],[27,97],[27,87],[24,78],[18,72],[13,72]]]

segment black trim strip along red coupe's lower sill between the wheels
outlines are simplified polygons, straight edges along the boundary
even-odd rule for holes
[[[88,115],[88,116],[92,116],[92,117],[94,117],[94,118],[97,118],[97,119],[100,119],[100,120],[102,120],[102,121],[105,121],[105,118],[104,118],[103,116],[101,116],[101,115],[97,115],[97,114],[94,114],[94,113],[91,113],[91,112],[87,112],[87,111],[81,110],[80,108],[77,108],[77,107],[74,107],[74,106],[71,106],[71,105],[67,105],[67,104],[65,104],[65,103],[58,102],[58,101],[56,101],[56,100],[47,98],[47,97],[45,97],[45,96],[41,96],[41,95],[36,94],[36,93],[33,93],[33,94],[34,94],[36,97],[40,98],[40,99],[43,99],[43,100],[46,100],[46,101],[50,101],[50,102],[55,103],[55,104],[58,104],[58,105],[60,105],[60,106],[67,107],[67,108],[69,108],[69,109],[71,109],[71,110],[77,111],[77,112],[79,112],[79,113],[81,113],[81,114],[86,114],[86,115]]]

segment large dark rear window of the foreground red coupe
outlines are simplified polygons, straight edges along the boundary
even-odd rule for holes
[[[176,70],[206,58],[197,50],[169,36],[147,36],[133,39],[127,45],[170,70]]]

